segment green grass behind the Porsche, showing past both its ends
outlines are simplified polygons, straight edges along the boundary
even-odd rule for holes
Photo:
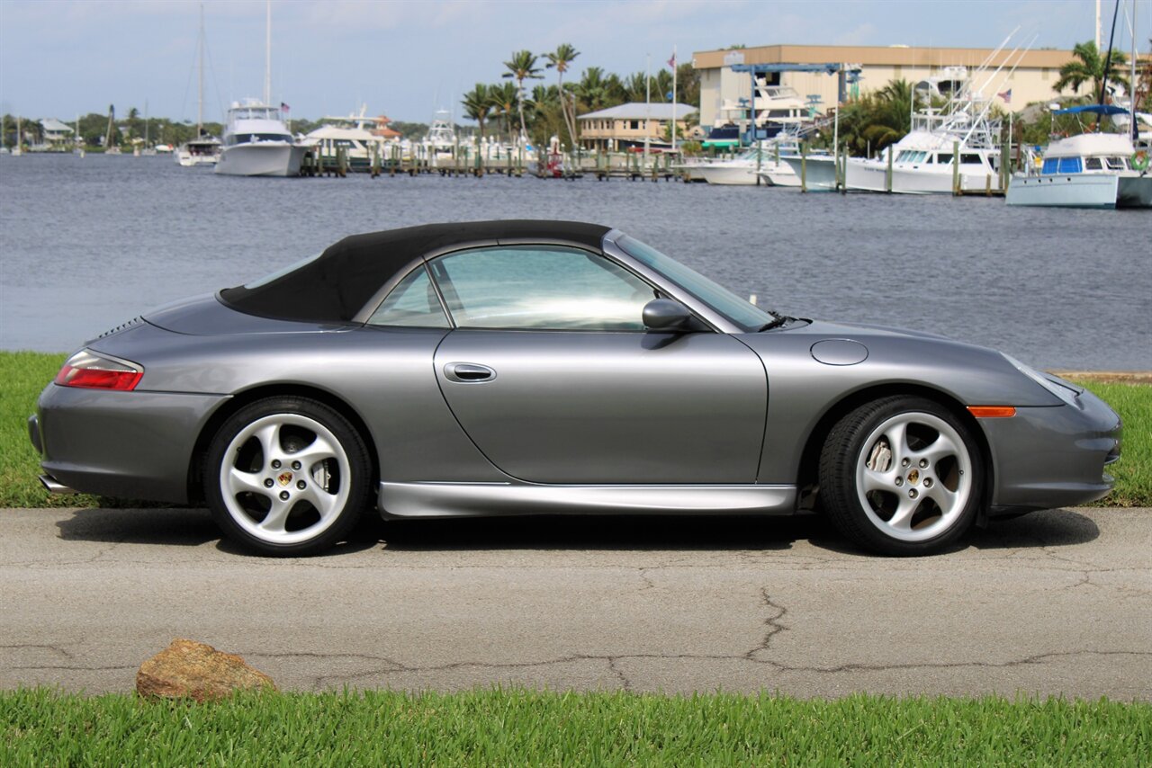
[[[25,419],[52,380],[63,355],[0,352],[0,507],[124,505],[123,500],[55,496],[37,480],[39,459],[28,440]],[[1114,507],[1152,507],[1152,386],[1081,381],[1124,420],[1123,456],[1109,470],[1116,488],[1104,501]]]

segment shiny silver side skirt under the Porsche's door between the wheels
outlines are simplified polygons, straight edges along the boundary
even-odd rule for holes
[[[785,485],[532,485],[518,482],[381,482],[380,515],[791,515],[796,488]]]

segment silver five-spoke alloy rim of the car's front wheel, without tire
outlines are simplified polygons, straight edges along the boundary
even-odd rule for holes
[[[899,413],[863,442],[856,495],[885,535],[925,541],[948,531],[972,494],[972,461],[964,440],[931,413]]]

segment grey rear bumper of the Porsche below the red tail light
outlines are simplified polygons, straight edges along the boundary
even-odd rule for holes
[[[45,487],[187,502],[196,440],[226,398],[48,385],[28,425]]]

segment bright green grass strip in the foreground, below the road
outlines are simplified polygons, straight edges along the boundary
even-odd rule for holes
[[[1140,766],[1152,705],[521,689],[244,694],[205,705],[0,693],[3,766]]]

